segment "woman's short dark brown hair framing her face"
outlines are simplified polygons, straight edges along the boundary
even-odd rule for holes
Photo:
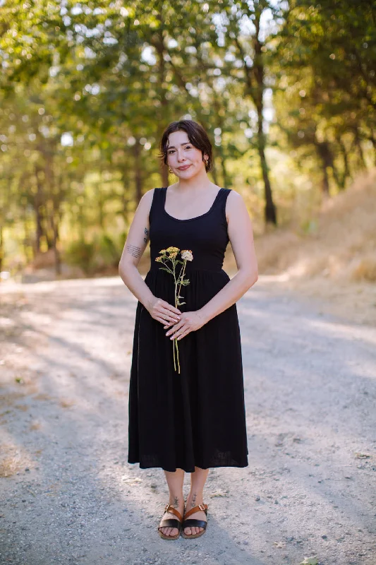
[[[207,172],[212,170],[212,143],[210,143],[210,139],[207,136],[205,129],[197,123],[197,121],[193,121],[192,119],[182,119],[180,121],[171,121],[164,132],[162,133],[161,142],[159,148],[161,150],[162,155],[159,155],[164,162],[164,165],[167,165],[167,150],[169,143],[169,135],[170,133],[174,133],[174,131],[183,130],[188,135],[188,139],[192,145],[196,149],[199,149],[202,153],[202,160],[204,160],[204,154],[207,153],[209,156],[207,163],[205,163],[205,169]]]

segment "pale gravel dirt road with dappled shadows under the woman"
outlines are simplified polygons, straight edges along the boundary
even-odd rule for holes
[[[1,564],[376,564],[375,328],[257,282],[248,468],[210,470],[207,533],[166,542],[163,471],[126,462],[135,298],[117,277],[0,293]]]

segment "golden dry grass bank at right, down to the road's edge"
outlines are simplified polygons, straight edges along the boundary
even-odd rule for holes
[[[257,238],[260,273],[281,275],[281,286],[318,299],[323,311],[376,325],[376,169],[325,201],[314,225],[310,234]]]

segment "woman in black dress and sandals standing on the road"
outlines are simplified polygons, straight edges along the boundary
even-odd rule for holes
[[[180,532],[192,538],[205,533],[203,489],[209,469],[248,465],[235,303],[256,282],[257,261],[243,198],[207,177],[212,145],[205,129],[192,120],[174,121],[160,148],[178,182],[142,196],[119,274],[138,299],[128,463],[164,470],[170,497],[158,531],[175,540]],[[137,266],[149,237],[151,266],[144,281]],[[238,267],[231,280],[222,269],[229,241]],[[174,305],[174,278],[156,261],[171,246],[193,255],[186,261],[189,283],[182,287],[180,308]],[[186,506],[184,472],[191,473]]]

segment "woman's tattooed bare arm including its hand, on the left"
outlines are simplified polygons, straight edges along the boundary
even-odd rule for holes
[[[145,306],[150,315],[160,321],[175,323],[181,311],[168,302],[155,297],[138,271],[138,263],[149,241],[149,213],[154,189],[142,196],[135,211],[128,237],[119,262],[119,275],[132,294]],[[178,314],[178,315],[176,315]]]

